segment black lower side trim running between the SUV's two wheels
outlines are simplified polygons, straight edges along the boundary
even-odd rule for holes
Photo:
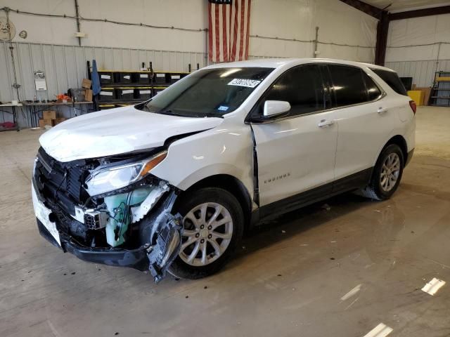
[[[315,202],[323,199],[328,199],[334,195],[365,187],[371,180],[372,171],[373,168],[371,167],[370,169],[354,173],[332,183],[327,183],[325,185],[315,187],[312,190],[295,194],[292,197],[259,207],[259,209],[252,213],[252,223],[256,223],[258,220],[276,218],[281,216],[281,214],[294,211],[295,209],[300,209],[303,206],[314,204]]]

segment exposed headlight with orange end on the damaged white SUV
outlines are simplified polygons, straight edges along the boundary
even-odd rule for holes
[[[167,150],[135,163],[95,169],[86,179],[87,192],[94,196],[126,187],[140,180],[167,156]]]

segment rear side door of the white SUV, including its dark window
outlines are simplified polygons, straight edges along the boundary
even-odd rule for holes
[[[399,119],[383,90],[361,68],[328,65],[328,69],[339,129],[335,178],[360,174],[364,180],[370,173],[365,170],[373,166]]]

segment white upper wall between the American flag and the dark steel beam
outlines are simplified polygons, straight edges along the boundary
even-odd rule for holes
[[[308,41],[315,39],[316,27],[319,27],[319,41],[353,45],[319,44],[319,57],[373,62],[377,22],[341,1],[252,0],[250,55],[311,58],[314,44]],[[255,35],[278,39],[263,39]]]

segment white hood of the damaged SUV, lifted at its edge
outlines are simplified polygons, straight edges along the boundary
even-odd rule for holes
[[[68,119],[44,133],[39,143],[56,160],[72,161],[162,146],[167,138],[214,128],[222,121],[119,107]]]

